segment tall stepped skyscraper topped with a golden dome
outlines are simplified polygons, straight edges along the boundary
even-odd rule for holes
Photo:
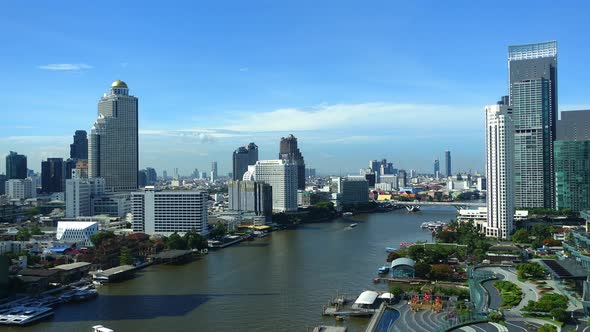
[[[98,118],[88,140],[88,176],[102,177],[107,191],[137,189],[138,99],[117,80],[98,102]]]

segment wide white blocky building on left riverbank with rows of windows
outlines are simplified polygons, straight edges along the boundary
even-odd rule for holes
[[[206,191],[159,191],[153,186],[133,192],[133,231],[169,236],[172,233],[184,235],[194,229],[207,235],[208,198]]]

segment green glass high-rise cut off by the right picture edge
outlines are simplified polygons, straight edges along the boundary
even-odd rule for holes
[[[590,209],[590,110],[561,112],[554,143],[555,208]]]

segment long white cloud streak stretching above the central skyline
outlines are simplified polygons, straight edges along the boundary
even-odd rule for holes
[[[436,104],[322,104],[308,109],[284,108],[270,112],[239,113],[223,129],[237,132],[307,131],[326,129],[436,130],[461,123],[481,123],[483,106]],[[479,121],[479,122],[478,122]],[[451,127],[449,127],[451,126]]]

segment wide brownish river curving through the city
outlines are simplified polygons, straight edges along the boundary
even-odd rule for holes
[[[321,311],[337,291],[386,289],[372,282],[385,264],[385,247],[431,241],[420,224],[455,215],[452,207],[427,207],[274,232],[186,265],[148,267],[134,279],[101,286],[94,300],[60,306],[51,320],[3,330],[80,332],[102,324],[117,332],[308,331],[335,325]],[[351,222],[358,226],[349,228]],[[367,322],[346,324],[357,332]]]

